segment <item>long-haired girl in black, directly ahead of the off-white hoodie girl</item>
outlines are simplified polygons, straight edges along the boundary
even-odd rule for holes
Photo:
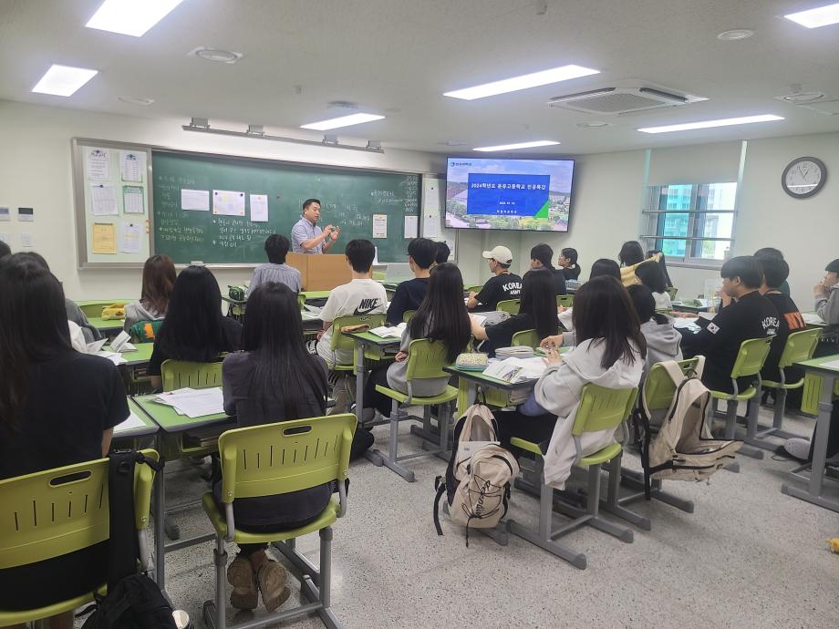
[[[471,334],[483,343],[480,351],[495,356],[499,347],[509,347],[513,335],[523,330],[536,330],[539,338],[556,335],[559,320],[556,317],[554,276],[547,269],[534,269],[524,273],[522,283],[522,305],[519,314],[514,314],[496,325],[483,327],[471,318]]]

